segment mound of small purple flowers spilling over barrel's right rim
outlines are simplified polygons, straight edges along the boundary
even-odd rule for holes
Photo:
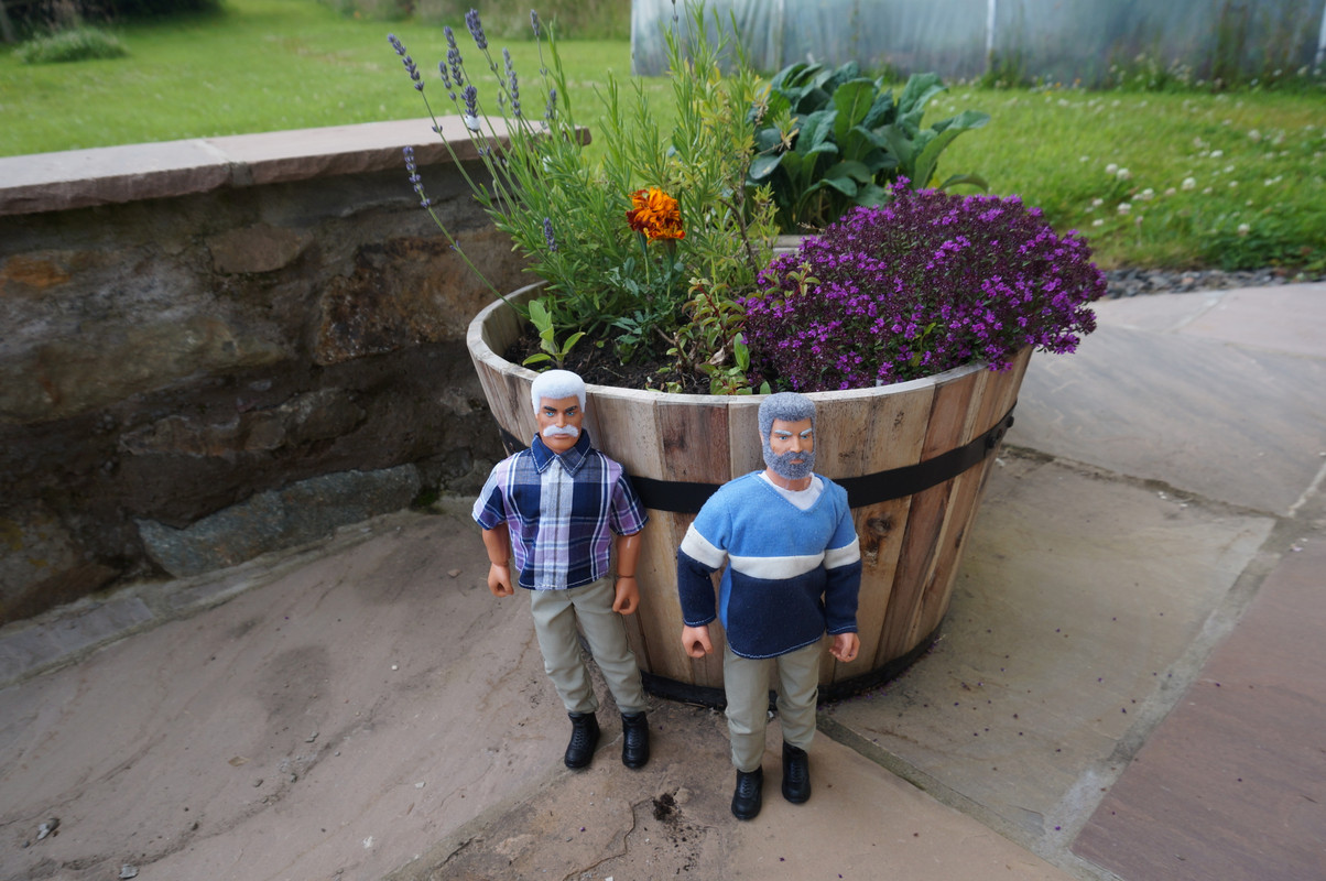
[[[1066,353],[1106,291],[1087,243],[1016,196],[911,190],[769,264],[743,301],[752,382],[797,391],[904,382],[1025,346]]]

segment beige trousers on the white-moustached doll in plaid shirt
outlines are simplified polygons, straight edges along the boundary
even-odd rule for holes
[[[646,709],[640,669],[626,641],[622,616],[613,612],[614,598],[611,576],[582,588],[529,592],[529,610],[534,616],[538,649],[544,653],[544,670],[552,678],[568,712],[598,710],[589,669],[581,657],[577,621],[585,632],[598,669],[607,679],[617,709],[622,712],[640,712]]]

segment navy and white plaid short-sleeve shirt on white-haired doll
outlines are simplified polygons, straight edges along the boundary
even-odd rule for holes
[[[479,494],[475,521],[511,531],[520,586],[578,588],[607,575],[614,535],[634,535],[648,520],[622,466],[590,446],[557,455],[536,437],[529,450],[499,462]]]

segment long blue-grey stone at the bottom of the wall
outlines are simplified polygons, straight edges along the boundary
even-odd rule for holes
[[[342,471],[259,492],[183,529],[138,528],[149,556],[175,577],[237,565],[332,535],[338,527],[407,507],[420,490],[412,464]]]

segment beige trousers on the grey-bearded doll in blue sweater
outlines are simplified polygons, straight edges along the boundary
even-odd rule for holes
[[[782,742],[802,750],[815,736],[815,698],[819,697],[819,644],[777,658],[743,658],[723,653],[723,690],[728,697],[728,736],[732,764],[754,771],[764,759],[764,728],[769,720],[769,674],[778,671],[778,719]]]

